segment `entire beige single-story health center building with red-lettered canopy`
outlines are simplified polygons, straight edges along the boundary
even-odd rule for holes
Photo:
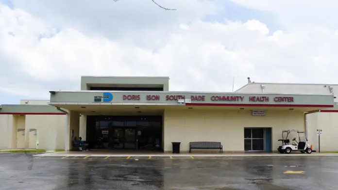
[[[171,142],[181,142],[185,153],[189,142],[212,141],[221,142],[224,153],[271,152],[282,130],[307,128],[314,139],[325,116],[307,118],[306,124],[305,113],[336,108],[324,87],[290,86],[248,83],[234,93],[171,92],[168,77],[82,77],[80,91],[50,91],[50,100],[2,105],[0,149],[71,150],[73,138],[82,137],[97,149],[171,152]],[[336,130],[321,128],[324,134]],[[330,141],[322,150],[338,149]]]

